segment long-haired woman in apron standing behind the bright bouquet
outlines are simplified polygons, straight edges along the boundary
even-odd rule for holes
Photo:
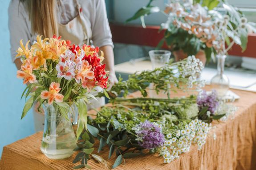
[[[103,63],[109,71],[110,87],[118,81],[104,0],[11,0],[8,14],[12,61],[17,68],[21,66],[20,59],[15,58],[19,40],[33,43],[38,34],[56,35],[72,44],[100,47],[105,57]]]

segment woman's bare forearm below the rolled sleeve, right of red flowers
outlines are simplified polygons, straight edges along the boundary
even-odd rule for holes
[[[103,63],[106,63],[106,70],[109,71],[110,88],[114,83],[118,83],[118,79],[115,75],[114,69],[114,52],[113,47],[110,45],[100,47],[100,50],[104,52]]]

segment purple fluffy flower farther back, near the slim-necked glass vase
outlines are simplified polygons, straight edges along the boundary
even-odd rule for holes
[[[199,110],[203,107],[208,107],[208,111],[214,115],[215,110],[219,105],[217,92],[212,90],[210,94],[207,94],[206,91],[203,91],[203,93],[197,97],[197,104],[199,106]]]

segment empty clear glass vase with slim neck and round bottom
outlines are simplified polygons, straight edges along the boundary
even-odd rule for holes
[[[218,66],[217,66],[217,75],[211,79],[211,86],[218,93],[219,97],[223,97],[227,94],[229,89],[229,79],[227,75],[224,75],[224,66],[226,55],[217,55]]]

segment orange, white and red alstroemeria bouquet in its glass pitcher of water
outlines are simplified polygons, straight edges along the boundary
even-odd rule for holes
[[[22,66],[17,78],[29,83],[21,97],[27,99],[21,119],[39,103],[45,112],[45,129],[41,150],[49,158],[66,158],[73,153],[76,138],[69,118],[78,111],[77,137],[87,129],[87,107],[94,87],[107,87],[108,77],[103,52],[99,47],[70,45],[70,41],[37,36],[31,48],[20,40],[17,57]]]

